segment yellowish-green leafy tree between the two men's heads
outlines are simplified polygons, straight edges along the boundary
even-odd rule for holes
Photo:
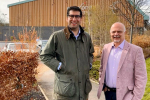
[[[105,5],[90,6],[85,15],[85,29],[92,37],[94,45],[103,47],[110,42],[109,30],[112,23],[116,22],[117,16]]]

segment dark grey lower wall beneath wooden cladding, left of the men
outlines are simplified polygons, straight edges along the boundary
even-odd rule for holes
[[[10,41],[11,36],[18,38],[18,33],[23,33],[25,30],[32,31],[35,28],[37,36],[41,39],[49,39],[49,36],[57,30],[64,27],[23,27],[23,26],[0,26],[0,41]]]

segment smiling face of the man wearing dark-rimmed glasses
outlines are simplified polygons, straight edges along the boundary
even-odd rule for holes
[[[81,23],[81,20],[82,20],[82,18],[80,17],[79,11],[73,11],[73,10],[69,11],[69,15],[67,17],[67,22],[68,22],[68,26],[69,26],[69,28],[71,28],[71,30],[78,29],[79,25]]]

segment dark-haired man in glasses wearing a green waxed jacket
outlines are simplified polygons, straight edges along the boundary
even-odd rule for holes
[[[94,48],[91,37],[80,26],[82,11],[67,9],[68,26],[54,32],[40,58],[55,72],[55,100],[87,100],[92,89],[89,80]]]

